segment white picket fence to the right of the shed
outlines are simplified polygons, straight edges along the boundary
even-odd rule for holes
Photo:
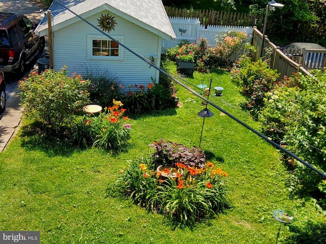
[[[241,31],[249,37],[253,33],[253,27],[249,26],[230,26],[230,25],[205,25],[201,24],[199,18],[169,17],[176,38],[173,40],[162,41],[162,50],[175,47],[182,40],[196,43],[197,39],[205,37],[210,46],[215,46],[216,37],[222,41],[223,34],[229,31]]]

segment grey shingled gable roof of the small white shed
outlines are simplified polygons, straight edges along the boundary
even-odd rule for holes
[[[87,18],[101,11],[119,15],[165,39],[175,38],[168,15],[161,0],[62,0],[61,4]],[[53,31],[80,20],[73,13],[53,1],[48,10],[53,16]],[[36,28],[40,36],[47,34],[47,17]]]

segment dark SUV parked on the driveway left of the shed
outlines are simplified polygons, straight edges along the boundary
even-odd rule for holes
[[[24,15],[0,12],[0,70],[23,74],[25,65],[43,52],[45,39],[34,28]]]

